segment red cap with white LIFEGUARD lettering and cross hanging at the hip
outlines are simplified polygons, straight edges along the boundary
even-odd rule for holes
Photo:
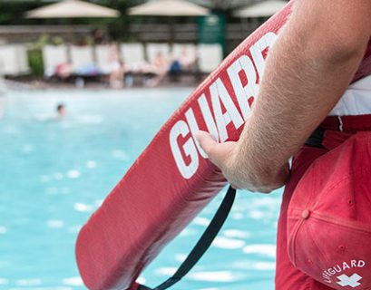
[[[294,266],[334,289],[371,289],[371,133],[318,158],[288,208]]]

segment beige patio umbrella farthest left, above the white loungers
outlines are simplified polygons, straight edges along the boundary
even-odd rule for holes
[[[27,18],[113,18],[118,16],[120,12],[117,10],[80,0],[63,0],[26,13]]]

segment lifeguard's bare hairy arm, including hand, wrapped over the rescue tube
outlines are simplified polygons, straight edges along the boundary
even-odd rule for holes
[[[269,191],[287,162],[347,89],[366,51],[369,0],[297,0],[268,53],[259,98],[236,144],[200,143],[229,182]]]

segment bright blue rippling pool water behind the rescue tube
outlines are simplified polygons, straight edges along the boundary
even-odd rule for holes
[[[0,289],[84,289],[79,228],[190,89],[9,92],[0,120]],[[53,121],[58,102],[68,116]],[[141,276],[169,277],[210,221],[215,198]],[[239,192],[220,237],[177,290],[274,289],[280,192]]]

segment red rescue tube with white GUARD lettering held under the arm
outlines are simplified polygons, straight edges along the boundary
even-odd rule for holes
[[[143,268],[225,186],[194,134],[204,130],[220,142],[238,140],[259,90],[266,53],[290,7],[251,34],[200,84],[83,226],[76,259],[89,289],[135,290]],[[370,54],[356,79],[370,72]]]

